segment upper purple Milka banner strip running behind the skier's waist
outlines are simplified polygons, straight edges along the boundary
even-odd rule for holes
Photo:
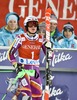
[[[12,66],[9,60],[7,59],[8,48],[6,46],[0,47],[0,68],[4,68],[3,66]],[[16,59],[18,61],[17,53],[15,54]],[[71,70],[77,70],[77,50],[76,49],[54,49],[54,56],[51,59],[50,68],[65,68],[66,70],[69,68]],[[40,54],[40,68],[45,68],[46,57],[41,50]],[[6,68],[8,68],[6,67]]]

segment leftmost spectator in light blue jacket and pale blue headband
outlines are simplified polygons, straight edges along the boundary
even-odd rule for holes
[[[24,32],[19,26],[19,19],[18,14],[15,12],[6,15],[6,25],[0,30],[0,46],[10,46],[15,37]]]

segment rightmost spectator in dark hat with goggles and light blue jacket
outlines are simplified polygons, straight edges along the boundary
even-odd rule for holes
[[[77,36],[70,22],[63,26],[62,36],[57,39],[57,48],[77,48]]]

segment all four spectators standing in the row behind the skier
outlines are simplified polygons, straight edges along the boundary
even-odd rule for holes
[[[62,31],[58,30],[58,19],[54,14],[50,16],[50,41],[53,48],[77,48],[77,36],[74,27],[70,22],[64,24]],[[0,46],[10,46],[15,37],[24,33],[24,29],[19,25],[19,15],[15,12],[5,16],[6,25],[0,28]],[[39,23],[38,33],[45,37],[45,21]]]

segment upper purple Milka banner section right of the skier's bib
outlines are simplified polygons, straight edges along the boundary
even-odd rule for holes
[[[52,68],[77,68],[76,62],[76,49],[55,49],[53,59],[51,59],[51,66]],[[45,55],[43,51],[41,51],[40,57],[40,66],[45,67]]]

